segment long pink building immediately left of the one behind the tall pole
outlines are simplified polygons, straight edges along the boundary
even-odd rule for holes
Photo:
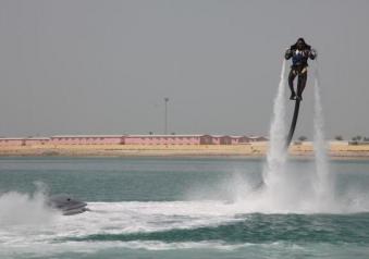
[[[124,145],[123,135],[59,135],[50,139],[53,145]]]

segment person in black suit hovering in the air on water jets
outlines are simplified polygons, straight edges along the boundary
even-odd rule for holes
[[[292,45],[284,54],[286,60],[292,58],[292,65],[288,75],[288,86],[291,89],[291,100],[303,100],[303,91],[307,81],[308,59],[315,60],[317,51],[307,45],[304,38],[298,38],[297,42]],[[297,76],[297,95],[294,90],[294,81]]]

